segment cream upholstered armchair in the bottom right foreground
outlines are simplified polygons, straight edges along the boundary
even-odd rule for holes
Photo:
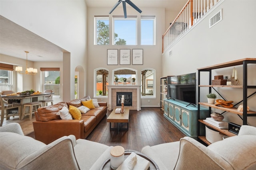
[[[238,136],[208,147],[190,137],[178,142],[146,146],[141,152],[160,170],[255,170],[256,127],[242,125]]]

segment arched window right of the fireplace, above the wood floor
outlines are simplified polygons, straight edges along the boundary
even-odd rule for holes
[[[141,71],[141,97],[155,98],[155,70],[152,68],[144,68]]]

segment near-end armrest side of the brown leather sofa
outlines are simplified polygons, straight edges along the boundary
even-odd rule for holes
[[[74,135],[76,139],[84,139],[84,120],[34,121],[33,127],[36,140],[45,144],[68,135]]]

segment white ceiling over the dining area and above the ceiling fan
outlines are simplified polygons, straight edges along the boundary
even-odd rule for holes
[[[111,10],[118,0],[85,0],[85,2],[89,8],[109,7]],[[181,10],[187,0],[131,0],[131,2],[138,8],[161,7],[166,10]],[[122,8],[122,3],[118,8]],[[65,50],[0,16],[0,53],[26,59],[24,51],[30,52],[29,61],[62,61],[62,53]]]

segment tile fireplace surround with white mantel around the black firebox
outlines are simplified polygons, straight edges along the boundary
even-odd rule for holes
[[[132,106],[126,107],[129,107],[130,110],[140,111],[140,88],[141,85],[108,85],[108,110],[116,108],[116,92],[132,92]]]

